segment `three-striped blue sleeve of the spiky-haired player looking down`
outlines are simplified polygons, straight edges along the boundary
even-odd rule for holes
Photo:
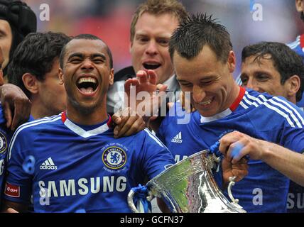
[[[281,97],[273,97],[263,104],[252,111],[254,114],[251,116],[247,114],[254,129],[254,137],[303,153],[303,111]]]

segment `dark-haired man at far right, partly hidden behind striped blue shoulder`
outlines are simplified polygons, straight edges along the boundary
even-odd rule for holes
[[[304,63],[283,43],[262,42],[244,47],[241,52],[242,86],[273,96],[283,96],[296,104],[302,99]],[[291,181],[288,212],[303,212],[304,187]]]

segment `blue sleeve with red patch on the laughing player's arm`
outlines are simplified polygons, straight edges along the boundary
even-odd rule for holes
[[[18,132],[18,131],[16,131]],[[29,157],[29,144],[24,137],[26,133],[15,133],[9,146],[4,199],[29,204],[31,199],[32,175],[23,170],[23,163]]]

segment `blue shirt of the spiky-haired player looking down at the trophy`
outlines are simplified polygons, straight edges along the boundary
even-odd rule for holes
[[[278,143],[295,152],[304,150],[303,111],[281,97],[241,87],[234,104],[215,116],[203,117],[198,111],[183,116],[179,103],[170,111],[157,135],[175,155],[175,161],[210,148],[229,131]],[[189,118],[189,123],[178,123],[180,118]],[[220,171],[215,173],[215,179],[221,185],[219,175]],[[249,160],[249,174],[232,187],[232,192],[248,212],[285,212],[288,186],[289,179],[280,172],[261,160]]]

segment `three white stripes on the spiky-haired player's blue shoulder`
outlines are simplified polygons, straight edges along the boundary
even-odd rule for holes
[[[276,96],[273,96],[271,99],[266,99],[266,97],[263,94],[260,94],[257,97],[251,96],[247,91],[245,92],[245,96],[243,99],[246,104],[249,104],[249,106],[254,105],[258,107],[260,105],[264,105],[268,109],[276,111],[276,113],[286,118],[288,123],[293,128],[295,128],[295,125],[298,128],[303,128],[304,125],[303,117],[296,109],[293,108],[293,106],[291,106],[291,104],[288,104],[287,101],[278,99],[278,97]]]

